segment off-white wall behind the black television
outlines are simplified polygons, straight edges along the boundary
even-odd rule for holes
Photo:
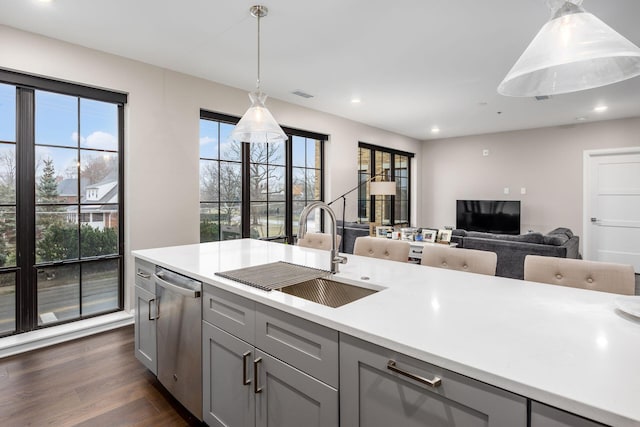
[[[427,141],[419,224],[455,226],[456,199],[521,200],[522,232],[562,226],[582,236],[584,150],[631,146],[640,146],[638,117]]]

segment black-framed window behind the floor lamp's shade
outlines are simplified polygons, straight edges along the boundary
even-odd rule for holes
[[[409,224],[412,153],[360,143],[358,147],[358,219],[383,225]],[[395,181],[395,196],[373,196],[368,180]],[[372,209],[373,206],[373,209]]]

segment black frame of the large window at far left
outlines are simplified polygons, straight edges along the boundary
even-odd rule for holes
[[[124,310],[124,278],[125,278],[125,203],[124,203],[124,144],[125,144],[125,112],[128,95],[124,92],[92,87],[79,83],[60,81],[52,78],[25,74],[0,68],[0,83],[16,87],[16,218],[22,226],[16,230],[17,262],[15,267],[1,267],[0,273],[16,274],[16,318],[13,332],[2,336],[15,335],[32,330],[44,329],[65,323],[102,316]],[[85,257],[71,261],[55,261],[36,263],[35,228],[36,228],[36,180],[35,180],[35,92],[46,91],[61,95],[69,95],[79,99],[112,103],[117,106],[118,120],[118,248],[117,254]],[[78,159],[80,161],[80,159]],[[78,180],[80,177],[78,177]],[[81,195],[78,194],[80,198]],[[80,206],[80,199],[78,206]],[[79,213],[79,212],[78,212]],[[80,228],[78,228],[79,230]],[[80,237],[80,236],[79,236]],[[79,241],[80,242],[80,241]],[[80,243],[79,243],[80,244]],[[89,315],[82,312],[82,266],[100,260],[117,260],[118,264],[118,301],[117,308]],[[37,274],[38,269],[48,266],[79,265],[80,282],[78,284],[78,317],[46,324],[38,324]]]

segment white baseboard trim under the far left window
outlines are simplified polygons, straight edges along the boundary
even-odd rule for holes
[[[24,334],[0,338],[0,358],[59,344],[134,323],[134,316],[125,311],[92,317]]]

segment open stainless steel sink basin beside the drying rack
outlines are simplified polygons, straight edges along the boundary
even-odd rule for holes
[[[376,289],[363,288],[331,279],[317,278],[305,280],[278,289],[285,294],[304,298],[329,307],[341,307],[378,292]]]

